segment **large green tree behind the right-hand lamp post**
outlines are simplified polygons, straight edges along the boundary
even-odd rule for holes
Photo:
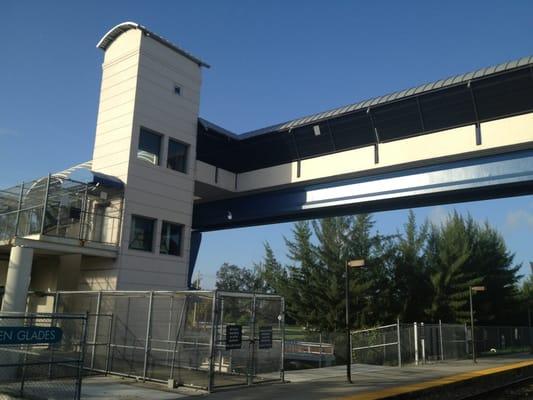
[[[450,214],[440,227],[432,226],[426,257],[433,300],[433,320],[466,322],[470,317],[469,287],[483,285],[475,296],[475,318],[482,323],[510,323],[515,314],[520,266],[513,265],[501,235],[471,216]]]

